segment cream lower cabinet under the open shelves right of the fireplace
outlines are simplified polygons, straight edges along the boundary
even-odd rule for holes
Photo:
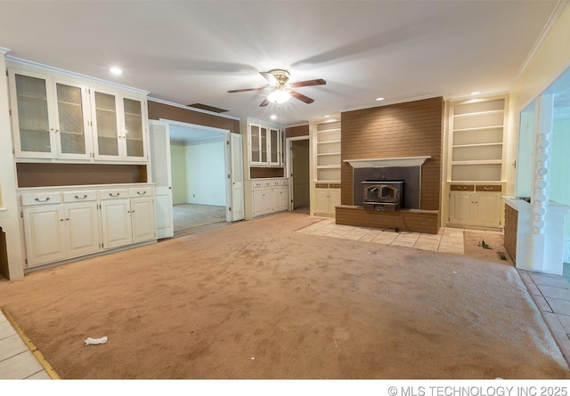
[[[502,226],[501,185],[452,184],[450,188],[450,225]]]

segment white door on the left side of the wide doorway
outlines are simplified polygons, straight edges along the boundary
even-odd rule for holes
[[[151,177],[155,183],[157,238],[175,235],[172,214],[172,174],[170,173],[170,133],[168,123],[149,120],[151,135]]]

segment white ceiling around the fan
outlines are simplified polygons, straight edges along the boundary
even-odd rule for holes
[[[338,110],[444,95],[504,93],[557,1],[0,1],[9,56],[297,125]],[[119,66],[124,73],[110,75]],[[259,71],[323,78],[260,108]]]

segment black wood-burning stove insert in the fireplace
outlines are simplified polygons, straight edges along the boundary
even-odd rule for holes
[[[362,182],[362,206],[366,210],[400,210],[403,203],[403,181],[367,180]]]

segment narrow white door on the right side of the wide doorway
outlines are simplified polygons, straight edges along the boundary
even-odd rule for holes
[[[230,222],[237,222],[245,217],[242,144],[243,139],[239,133],[230,133],[230,181],[232,183],[232,211],[228,214],[231,217]]]

